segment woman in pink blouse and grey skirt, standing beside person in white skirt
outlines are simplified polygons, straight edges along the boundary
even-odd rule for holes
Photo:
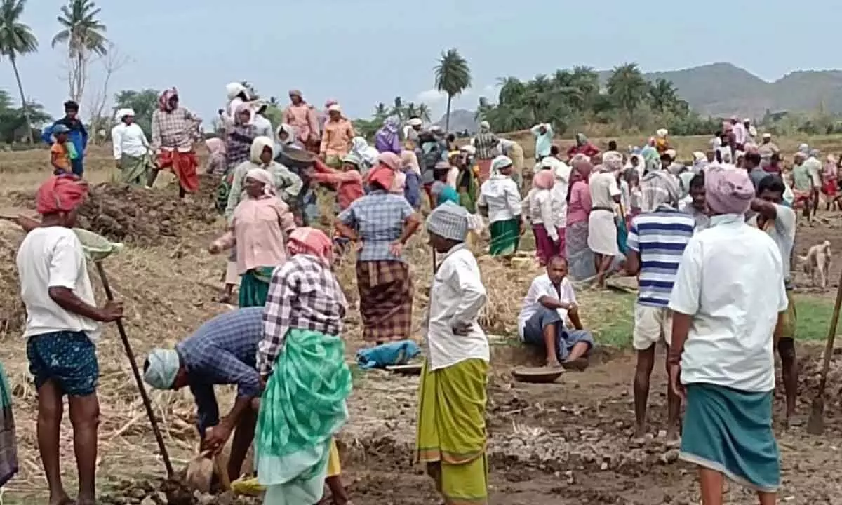
[[[568,255],[568,272],[574,280],[588,279],[596,274],[594,253],[588,247],[588,216],[590,215],[590,188],[588,179],[593,165],[587,157],[577,155],[571,162],[568,188],[568,223],[565,229],[565,247]]]

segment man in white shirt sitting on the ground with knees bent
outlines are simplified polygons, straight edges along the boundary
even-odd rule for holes
[[[536,277],[524,298],[518,316],[520,341],[546,351],[546,366],[584,369],[585,356],[594,347],[594,337],[578,316],[576,293],[567,279],[568,262],[553,256],[546,274]],[[565,328],[568,317],[573,329]]]

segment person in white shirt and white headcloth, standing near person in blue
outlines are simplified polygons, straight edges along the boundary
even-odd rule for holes
[[[120,109],[116,119],[118,123],[111,129],[111,143],[120,180],[136,186],[145,185],[153,167],[147,135],[135,122],[134,110]]]

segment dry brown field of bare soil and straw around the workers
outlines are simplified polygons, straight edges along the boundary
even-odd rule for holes
[[[842,137],[812,140],[822,149],[842,151]],[[599,140],[603,145],[607,140]],[[619,139],[621,146],[640,140]],[[676,139],[683,154],[703,149],[706,138]],[[527,157],[531,148],[524,142]],[[563,144],[563,142],[562,142]],[[779,145],[791,151],[796,140]],[[566,146],[566,144],[565,144]],[[109,180],[109,152],[94,149],[88,159],[93,183]],[[32,192],[49,173],[47,151],[0,152],[3,191],[0,209],[27,209]],[[93,189],[83,210],[94,231],[124,240],[129,247],[109,258],[106,269],[120,299],[125,300],[125,325],[139,361],[153,346],[172,345],[186,337],[210,316],[229,310],[212,301],[219,287],[224,258],[212,257],[206,245],[221,232],[223,223],[210,210],[210,181],[203,179],[201,198],[193,204],[176,204],[174,189],[152,193],[113,187]],[[842,220],[835,216],[799,230],[799,248],[829,237],[834,251],[842,250]],[[0,361],[13,387],[18,425],[20,472],[3,490],[4,503],[44,502],[45,481],[35,444],[35,390],[27,370],[25,343],[20,337],[22,317],[14,253],[22,233],[0,223]],[[426,306],[432,258],[424,238],[409,248],[416,286],[415,317]],[[579,293],[583,321],[604,344],[584,373],[569,373],[554,385],[525,385],[511,379],[518,364],[535,361],[514,340],[520,299],[530,279],[531,267],[507,268],[492,258],[479,258],[490,303],[488,332],[493,334],[493,372],[489,385],[490,502],[495,505],[545,505],[574,503],[696,503],[695,475],[676,460],[674,449],[663,444],[658,431],[664,420],[666,381],[658,367],[652,384],[650,430],[653,439],[639,447],[630,443],[632,428],[631,381],[634,357],[628,350],[631,295]],[[834,264],[834,279],[839,275]],[[356,300],[353,263],[348,258],[338,268],[349,300]],[[800,285],[805,279],[798,279]],[[93,284],[99,282],[94,279]],[[804,286],[805,322],[799,332],[820,338],[826,332],[830,290]],[[807,293],[809,292],[809,293]],[[102,299],[99,290],[98,299]],[[832,295],[831,295],[832,296]],[[812,305],[811,305],[812,304]],[[816,308],[818,307],[818,308]],[[802,312],[799,312],[802,316]],[[800,319],[801,323],[801,319]],[[348,359],[360,347],[360,316],[352,310],[345,338]],[[816,333],[816,335],[813,335]],[[420,338],[420,335],[417,336]],[[820,348],[801,343],[802,412],[807,412],[811,390],[817,382]],[[163,477],[161,459],[152,430],[143,412],[116,328],[109,325],[99,343],[102,421],[99,429],[99,489],[106,503],[139,503]],[[779,431],[783,455],[786,503],[842,503],[842,365],[834,363],[827,394],[828,429],[823,437],[807,435],[802,428]],[[354,370],[351,420],[340,435],[344,473],[357,505],[421,505],[439,502],[433,486],[412,464],[415,378]],[[218,388],[221,409],[231,399],[230,388]],[[153,392],[152,400],[162,421],[164,439],[176,465],[194,455],[197,438],[194,406],[189,391]],[[782,397],[775,404],[780,418]],[[62,435],[63,469],[72,489],[75,469],[71,429],[65,422]],[[735,485],[727,491],[729,503],[754,503]],[[146,505],[146,503],[144,504]]]

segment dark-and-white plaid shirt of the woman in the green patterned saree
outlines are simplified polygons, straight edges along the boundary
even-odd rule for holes
[[[298,328],[338,335],[348,302],[336,277],[317,258],[296,254],[274,269],[263,312],[257,369],[269,375],[286,333]]]

